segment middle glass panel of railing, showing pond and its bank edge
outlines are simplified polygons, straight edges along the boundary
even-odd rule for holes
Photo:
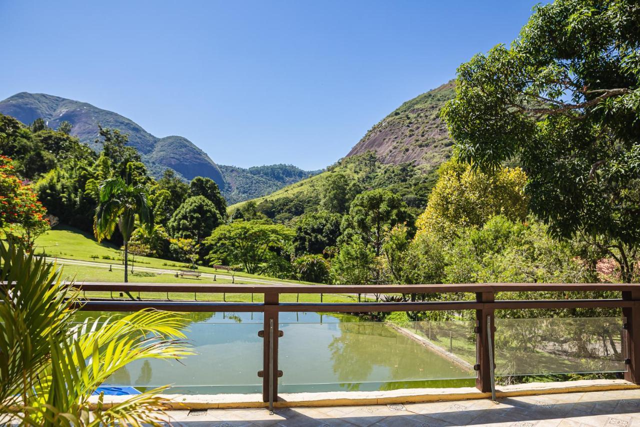
[[[475,344],[467,322],[281,322],[280,392],[390,390],[474,384]],[[449,323],[449,328],[447,328]],[[470,359],[470,360],[469,360]]]

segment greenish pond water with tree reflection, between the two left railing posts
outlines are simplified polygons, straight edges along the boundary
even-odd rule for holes
[[[282,330],[283,392],[455,387],[475,378],[380,322],[284,324]]]

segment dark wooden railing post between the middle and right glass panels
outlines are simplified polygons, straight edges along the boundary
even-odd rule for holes
[[[476,292],[477,303],[493,303],[493,301],[495,301],[495,294],[493,292]],[[483,393],[491,391],[491,371],[493,369],[493,366],[491,366],[489,362],[490,347],[488,346],[487,340],[487,317],[490,317],[492,331],[495,331],[493,309],[482,308],[481,310],[476,310],[476,370],[478,371],[476,387]],[[493,333],[491,334],[492,340],[494,335]],[[493,342],[491,349],[495,349]]]

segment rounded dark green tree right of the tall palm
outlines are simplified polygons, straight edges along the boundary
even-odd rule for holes
[[[220,213],[204,196],[189,197],[173,213],[167,226],[172,237],[193,239],[200,244],[222,223]]]

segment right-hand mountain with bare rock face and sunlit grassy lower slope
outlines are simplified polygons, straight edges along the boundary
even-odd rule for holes
[[[305,212],[317,210],[324,185],[332,174],[340,173],[363,190],[387,188],[403,196],[409,206],[424,209],[438,178],[438,165],[451,157],[453,140],[440,120],[440,110],[453,99],[454,90],[454,81],[449,81],[406,101],[367,131],[348,155],[325,172],[253,201],[259,210],[273,217],[282,213],[300,215],[296,213],[300,205]],[[232,203],[229,212],[245,205],[240,201]]]

